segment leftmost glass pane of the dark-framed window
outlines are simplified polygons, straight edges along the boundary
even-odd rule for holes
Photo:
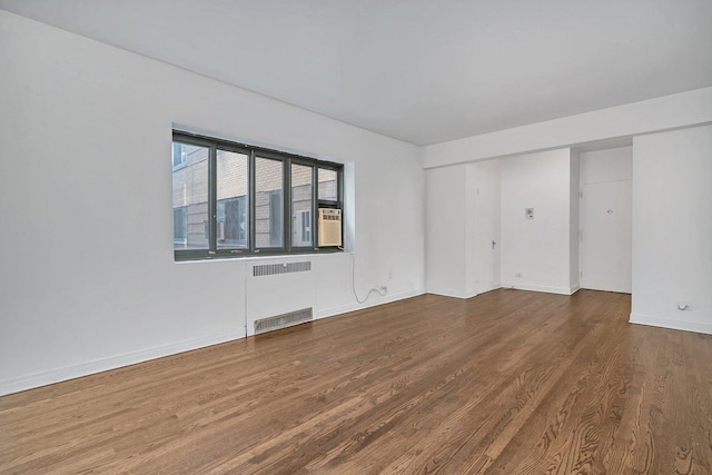
[[[208,248],[208,157],[210,149],[194,145],[174,146],[184,166],[174,169],[174,248]],[[179,222],[178,222],[179,221]]]

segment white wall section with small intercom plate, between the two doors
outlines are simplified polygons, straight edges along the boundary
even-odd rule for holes
[[[571,283],[571,177],[567,148],[502,159],[503,287],[575,291]],[[525,219],[526,208],[534,208],[534,219]]]

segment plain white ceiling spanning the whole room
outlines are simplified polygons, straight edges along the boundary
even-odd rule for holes
[[[431,145],[712,86],[712,0],[0,0]]]

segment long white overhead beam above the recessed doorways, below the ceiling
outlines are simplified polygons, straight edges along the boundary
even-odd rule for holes
[[[551,150],[712,122],[712,87],[423,148],[423,167]]]

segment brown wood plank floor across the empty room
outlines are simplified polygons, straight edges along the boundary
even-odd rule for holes
[[[0,473],[712,474],[712,336],[425,295],[0,398]]]

